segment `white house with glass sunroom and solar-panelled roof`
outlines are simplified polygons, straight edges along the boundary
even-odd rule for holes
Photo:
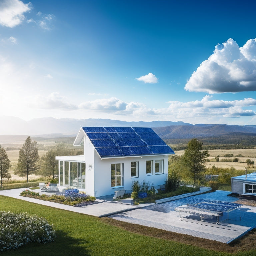
[[[168,155],[174,151],[151,129],[81,127],[74,146],[84,143],[83,156],[59,156],[59,186],[95,197],[131,190],[133,181],[163,185]]]

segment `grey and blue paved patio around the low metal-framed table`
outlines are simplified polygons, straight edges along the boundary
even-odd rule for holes
[[[237,200],[237,198],[228,197],[228,194],[230,194],[228,191],[216,191],[159,205],[154,204],[143,209],[114,214],[109,217],[115,220],[216,240],[222,243],[230,243],[256,226],[256,207],[242,206],[241,211],[233,211],[230,213],[229,219],[219,224],[214,222],[202,222],[200,224],[199,218],[191,218],[191,214],[186,213],[182,213],[180,220],[179,213],[174,211],[177,206],[198,203],[204,200],[227,202]]]

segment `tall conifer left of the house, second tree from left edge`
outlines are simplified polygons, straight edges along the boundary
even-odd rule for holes
[[[37,149],[37,142],[32,141],[30,136],[27,137],[22,148],[20,149],[20,155],[18,159],[18,164],[15,169],[15,173],[18,174],[20,177],[24,177],[27,175],[27,182],[28,182],[28,175],[34,173],[38,169],[38,149]]]

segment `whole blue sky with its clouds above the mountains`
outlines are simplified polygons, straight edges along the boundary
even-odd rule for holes
[[[0,116],[255,125],[255,7],[0,0]]]

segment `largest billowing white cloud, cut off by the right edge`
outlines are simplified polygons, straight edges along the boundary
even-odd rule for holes
[[[187,81],[185,90],[207,93],[256,91],[256,39],[243,47],[233,39],[215,46]]]

